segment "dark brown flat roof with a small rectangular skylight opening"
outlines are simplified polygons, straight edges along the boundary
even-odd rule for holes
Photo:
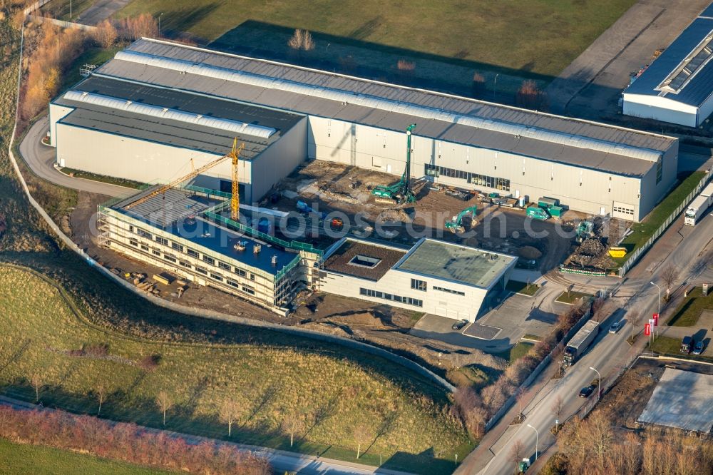
[[[337,242],[333,250],[327,251],[323,267],[376,282],[406,255],[406,251],[376,242],[345,238],[341,244]]]

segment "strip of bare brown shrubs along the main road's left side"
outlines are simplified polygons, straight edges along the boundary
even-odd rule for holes
[[[587,306],[587,304],[573,306],[567,312],[559,315],[557,324],[548,337],[535,344],[524,357],[515,360],[493,384],[484,387],[480,394],[470,386],[458,388],[453,394],[453,412],[463,421],[473,436],[483,436],[488,419],[505,404],[512,394],[516,394],[521,407],[523,392],[518,390],[520,384],[552,349],[555,349],[555,357],[562,351],[560,339],[583,317]],[[593,308],[593,312],[600,312],[600,309],[602,309],[601,305],[597,309]]]

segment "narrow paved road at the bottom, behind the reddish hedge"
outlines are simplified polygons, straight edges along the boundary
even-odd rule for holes
[[[9,397],[0,396],[0,404],[6,406],[14,407],[15,409],[37,409],[36,404],[32,404],[26,401],[21,401],[19,399],[12,399]],[[43,408],[45,411],[53,411],[55,409]],[[190,434],[181,434],[180,432],[173,431],[162,431],[160,429],[153,429],[152,427],[143,427],[145,431],[148,432],[165,432],[170,436],[180,437],[185,439],[189,444],[200,444],[202,441],[216,442],[217,444],[227,444],[231,446],[236,446],[238,449],[245,451],[251,451],[254,454],[264,456],[272,467],[276,471],[289,471],[297,472],[304,475],[371,475],[371,474],[383,474],[383,475],[410,475],[406,472],[378,469],[373,466],[363,465],[363,464],[353,464],[351,462],[345,462],[334,459],[324,459],[319,456],[309,456],[296,454],[294,452],[287,452],[275,449],[266,449],[265,447],[258,447],[245,444],[235,444],[226,441],[217,441],[215,439],[207,439],[205,437],[193,436]]]

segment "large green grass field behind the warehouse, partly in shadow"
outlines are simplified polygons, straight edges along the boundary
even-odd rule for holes
[[[478,71],[487,89],[503,94],[519,87],[523,76],[550,81],[634,3],[317,0],[307,7],[289,0],[134,0],[118,16],[163,14],[168,36],[185,31],[200,42],[218,40],[221,48],[234,44],[285,58],[289,34],[307,29],[315,47],[304,56],[313,60],[339,65],[351,57],[372,76],[388,77],[406,59],[416,63],[413,76],[468,88]]]

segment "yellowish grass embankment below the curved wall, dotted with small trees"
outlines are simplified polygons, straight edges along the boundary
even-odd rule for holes
[[[396,380],[386,377],[379,368],[392,365],[376,357],[337,347],[128,338],[93,327],[68,296],[16,267],[0,267],[0,295],[0,392],[11,397],[34,401],[37,374],[43,404],[96,414],[103,385],[102,417],[163,427],[155,399],[165,391],[174,402],[167,429],[223,439],[218,407],[235,399],[242,414],[230,440],[289,449],[281,426],[287,414],[299,414],[304,429],[292,450],[354,461],[354,427],[366,424],[362,450],[369,448],[359,461],[379,464],[381,456],[384,466],[421,473],[447,472],[452,462],[441,459],[470,449],[446,415],[442,392],[404,369],[393,368]],[[94,356],[81,356],[83,348],[95,348]],[[145,369],[140,361],[151,356],[158,367]]]

